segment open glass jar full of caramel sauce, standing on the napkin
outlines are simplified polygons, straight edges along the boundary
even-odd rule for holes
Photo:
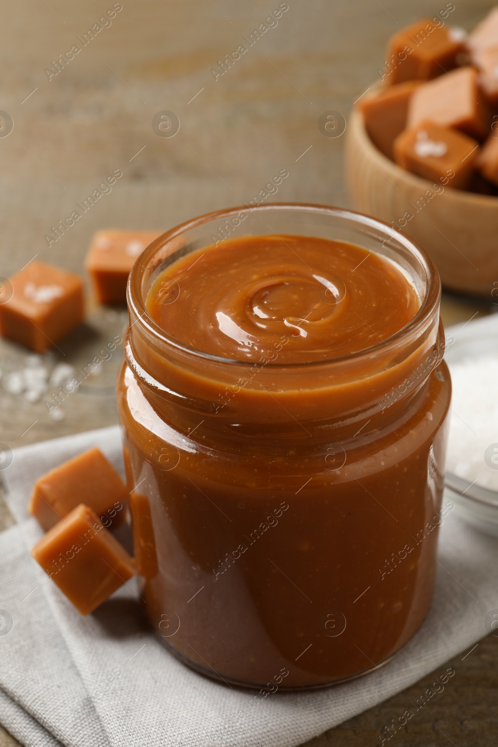
[[[194,350],[146,311],[177,258],[237,235],[318,236],[401,268],[420,309],[368,350],[280,364]],[[175,303],[175,281],[164,290]],[[370,672],[432,598],[449,372],[441,284],[390,226],[319,205],[233,208],[151,244],[128,281],[117,397],[141,592],[184,663],[231,684],[326,686]]]

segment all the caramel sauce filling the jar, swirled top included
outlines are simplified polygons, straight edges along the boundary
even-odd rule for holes
[[[118,405],[158,635],[206,675],[269,689],[388,660],[432,598],[438,310],[400,338],[421,302],[399,265],[294,235],[190,252],[144,300]]]

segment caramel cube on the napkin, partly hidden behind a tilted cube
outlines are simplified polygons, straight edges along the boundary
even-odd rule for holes
[[[28,511],[49,530],[80,503],[90,506],[106,526],[125,519],[128,492],[102,451],[90,449],[47,472],[34,483]]]

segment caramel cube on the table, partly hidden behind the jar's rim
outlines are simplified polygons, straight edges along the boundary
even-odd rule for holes
[[[85,267],[99,303],[126,303],[126,283],[134,262],[161,231],[98,231],[88,249]]]

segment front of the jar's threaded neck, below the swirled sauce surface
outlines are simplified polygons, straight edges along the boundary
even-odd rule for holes
[[[363,359],[332,364],[278,366],[278,350],[247,365],[213,362],[168,349],[140,320],[125,337],[128,367],[161,419],[185,434],[196,427],[211,439],[262,443],[344,441],[366,424],[367,433],[385,429],[411,408],[443,351],[438,309],[402,345],[387,341]]]

